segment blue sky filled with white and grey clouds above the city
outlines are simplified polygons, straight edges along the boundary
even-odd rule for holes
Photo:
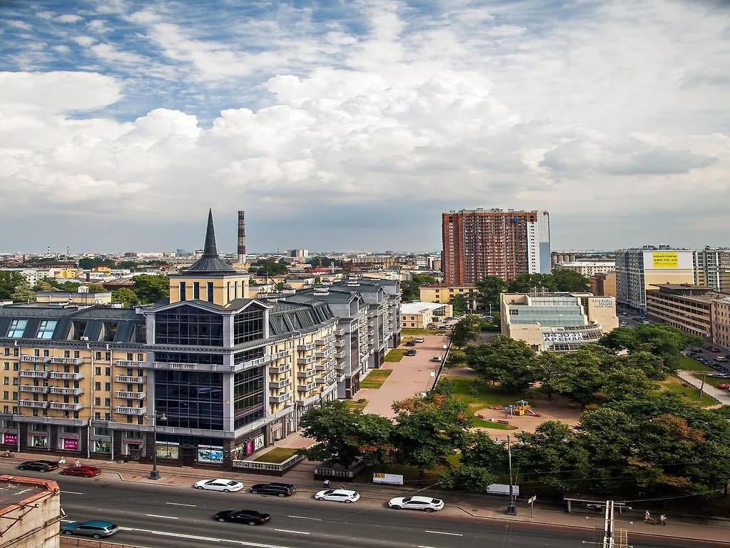
[[[711,0],[0,1],[0,252],[730,245]]]

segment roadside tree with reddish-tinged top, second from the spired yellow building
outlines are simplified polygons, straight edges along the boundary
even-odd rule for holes
[[[419,482],[423,482],[426,468],[445,462],[464,444],[472,423],[464,401],[433,392],[425,398],[396,401],[393,411],[393,456],[399,463],[417,466]]]

